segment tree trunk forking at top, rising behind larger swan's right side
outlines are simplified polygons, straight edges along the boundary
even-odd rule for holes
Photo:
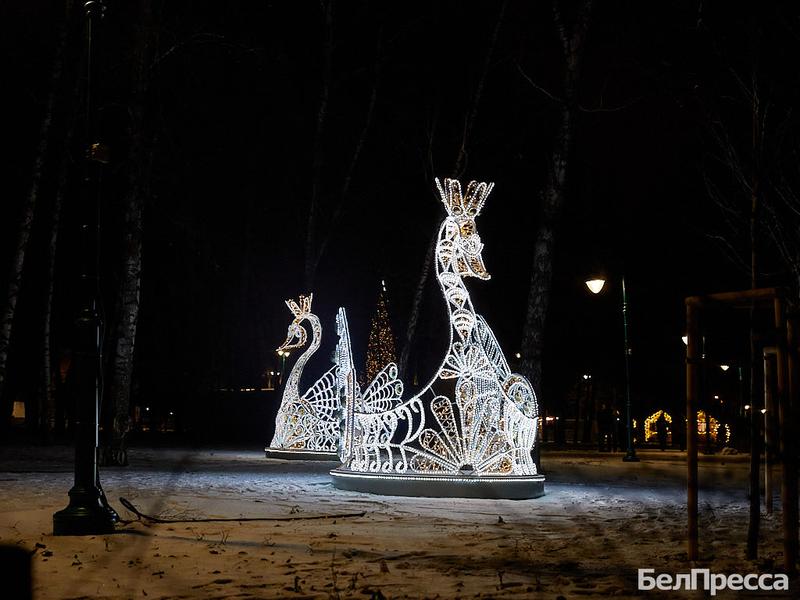
[[[564,99],[547,183],[541,195],[542,212],[534,242],[528,308],[522,334],[522,372],[531,380],[534,389],[541,389],[542,385],[542,351],[553,282],[553,249],[566,202],[567,166],[578,111],[577,84],[591,10],[592,0],[585,0],[572,31],[567,33],[558,0],[553,4],[553,20],[564,52]]]

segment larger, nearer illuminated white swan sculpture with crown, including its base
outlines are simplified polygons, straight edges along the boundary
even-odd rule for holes
[[[402,400],[397,366],[388,364],[363,391],[347,320],[337,318],[337,386],[344,406],[342,489],[394,495],[533,498],[544,493],[531,453],[539,409],[527,379],[512,373],[465,277],[489,279],[475,227],[493,184],[436,185],[447,210],[436,244],[436,277],[450,316],[450,343],[422,391]]]

